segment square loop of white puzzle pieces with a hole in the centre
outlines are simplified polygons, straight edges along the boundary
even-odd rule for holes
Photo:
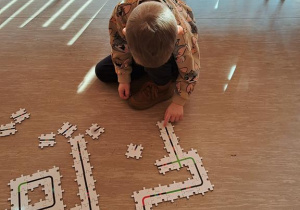
[[[32,175],[21,176],[15,180],[10,180],[8,184],[11,188],[11,209],[53,209],[63,210],[66,205],[63,204],[61,189],[61,175],[58,167],[53,167],[48,171],[38,171]],[[29,204],[28,190],[34,190],[39,185],[43,186],[45,199],[33,205]]]

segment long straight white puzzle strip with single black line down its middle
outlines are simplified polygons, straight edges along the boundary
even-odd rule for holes
[[[84,210],[92,209],[99,210],[98,197],[99,195],[95,189],[95,180],[92,175],[93,167],[90,164],[89,156],[87,152],[86,144],[83,135],[75,136],[68,141],[71,144],[71,155],[74,159],[74,165],[76,171],[76,182],[79,187],[79,193],[81,205],[76,205],[71,210]]]

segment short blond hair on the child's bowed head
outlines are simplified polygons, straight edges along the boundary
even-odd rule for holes
[[[177,37],[177,21],[163,3],[147,1],[137,6],[126,23],[126,40],[134,60],[157,68],[171,57]]]

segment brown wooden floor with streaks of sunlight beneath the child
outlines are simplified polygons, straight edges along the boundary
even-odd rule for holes
[[[62,11],[69,1],[54,0],[39,14],[49,0],[4,10],[10,2],[0,0],[0,124],[19,108],[31,118],[0,139],[0,209],[10,207],[11,179],[54,165],[67,208],[80,203],[70,144],[57,136],[55,147],[38,147],[39,135],[67,121],[78,126],[75,134],[92,123],[106,129],[99,141],[86,137],[101,210],[133,210],[134,191],[191,177],[186,170],[163,176],[154,166],[167,155],[156,122],[168,102],[135,111],[116,85],[95,80],[93,66],[110,53],[107,24],[117,0],[92,1],[65,30],[87,1]],[[175,133],[185,151],[198,150],[215,189],[154,209],[300,209],[300,1],[186,2],[199,27],[202,73]],[[142,159],[126,159],[131,142],[144,146]],[[32,202],[40,191],[30,192]]]

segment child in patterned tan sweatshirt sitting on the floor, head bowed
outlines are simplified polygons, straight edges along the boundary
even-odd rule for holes
[[[123,0],[112,13],[109,33],[112,53],[97,64],[97,77],[119,82],[119,96],[135,109],[172,97],[164,124],[181,120],[200,70],[191,8],[180,0]],[[152,81],[130,97],[131,80],[145,73]]]

